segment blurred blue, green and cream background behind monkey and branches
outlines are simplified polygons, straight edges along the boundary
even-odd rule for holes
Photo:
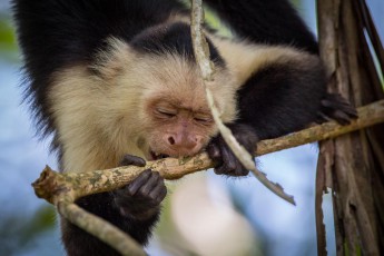
[[[33,1],[33,0],[31,0]],[[315,1],[293,1],[316,30]],[[384,39],[384,1],[367,0]],[[41,46],[43,47],[43,46]],[[45,167],[57,167],[49,140],[35,136],[22,104],[21,58],[10,2],[0,0],[0,255],[65,255],[58,217],[30,184]],[[211,170],[169,183],[150,255],[316,255],[314,185],[317,145],[258,158],[259,168],[295,196],[277,198],[255,178],[228,179]],[[328,253],[335,255],[331,198],[323,208]]]

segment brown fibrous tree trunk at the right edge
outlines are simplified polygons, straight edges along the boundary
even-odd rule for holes
[[[384,51],[365,0],[318,0],[317,12],[328,90],[342,93],[355,107],[384,99],[377,72],[383,73]],[[321,142],[318,255],[326,255],[322,213],[326,187],[333,191],[337,255],[384,255],[383,125]]]

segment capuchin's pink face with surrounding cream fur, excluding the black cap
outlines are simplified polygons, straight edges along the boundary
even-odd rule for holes
[[[228,71],[218,69],[209,86],[221,119],[230,122],[236,117],[235,87]],[[193,156],[217,134],[199,69],[193,61],[173,53],[148,55],[125,63],[120,72],[110,79],[115,82],[109,92],[112,122],[120,122],[124,137],[147,159]],[[129,146],[126,150],[131,149]]]

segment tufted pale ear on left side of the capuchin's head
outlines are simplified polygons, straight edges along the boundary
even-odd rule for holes
[[[131,47],[117,38],[108,38],[107,47],[96,53],[91,70],[107,81],[129,70],[134,65],[136,53]]]

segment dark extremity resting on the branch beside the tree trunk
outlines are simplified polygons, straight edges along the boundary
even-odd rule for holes
[[[317,122],[322,124],[334,119],[341,125],[348,125],[354,118],[357,118],[356,109],[341,95],[327,93],[322,99]]]

